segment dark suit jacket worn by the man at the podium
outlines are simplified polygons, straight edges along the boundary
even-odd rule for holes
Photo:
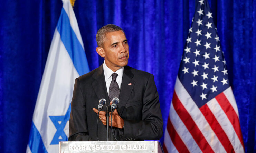
[[[128,85],[131,83],[131,85]],[[76,78],[69,120],[68,141],[96,141],[97,108],[107,94],[103,64]],[[163,134],[163,120],[154,76],[129,66],[124,67],[117,112],[124,119],[124,129],[114,128],[118,140],[158,140]],[[111,128],[110,128],[111,131]],[[113,141],[112,133],[110,140]],[[106,127],[99,121],[98,137],[106,141]]]

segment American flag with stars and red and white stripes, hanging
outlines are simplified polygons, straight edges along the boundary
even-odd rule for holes
[[[243,153],[239,114],[207,0],[199,0],[176,79],[164,152]]]

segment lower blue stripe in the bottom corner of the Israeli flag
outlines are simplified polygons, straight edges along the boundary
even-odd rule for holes
[[[31,125],[28,146],[32,153],[48,153],[34,122]]]

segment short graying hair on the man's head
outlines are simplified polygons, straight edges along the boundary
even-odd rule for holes
[[[96,34],[96,41],[97,41],[98,47],[103,47],[103,43],[106,40],[106,34],[108,32],[115,32],[115,31],[119,31],[119,30],[123,31],[122,28],[120,28],[114,24],[107,24],[106,26],[103,26],[101,29],[99,29],[99,31]]]

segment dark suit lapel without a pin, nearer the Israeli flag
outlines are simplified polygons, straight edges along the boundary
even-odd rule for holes
[[[102,98],[105,98],[107,101],[107,105],[109,105],[110,101],[108,99],[108,94],[107,94],[107,87],[106,87],[105,76],[103,72],[103,64],[96,69],[92,77],[95,79],[95,81],[92,82],[93,90],[96,93],[98,99],[100,100]]]

